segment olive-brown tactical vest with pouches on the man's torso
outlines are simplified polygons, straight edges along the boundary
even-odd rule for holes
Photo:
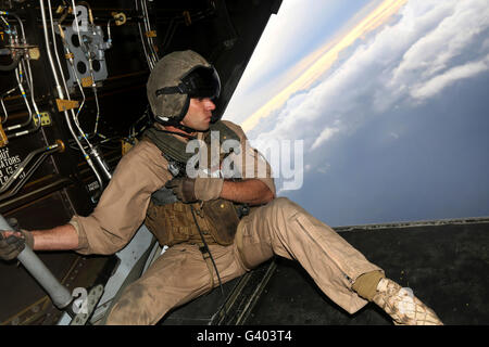
[[[218,131],[220,146],[227,139],[239,141],[239,137],[222,121],[211,125],[210,130]],[[203,139],[208,150],[210,150],[211,131],[208,131]],[[195,155],[186,153],[187,143],[155,128],[148,129],[143,138],[153,142],[162,151],[162,155],[168,160],[168,170],[172,175],[186,176],[186,163]],[[220,153],[220,165],[224,157],[225,154]],[[184,204],[176,198],[172,190],[163,187],[151,195],[145,224],[161,245],[172,246],[181,242],[201,244],[202,236],[208,244],[230,245],[240,217],[246,214],[246,210],[247,206],[242,204],[221,198]]]

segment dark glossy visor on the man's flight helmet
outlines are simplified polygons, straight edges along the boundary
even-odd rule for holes
[[[181,77],[181,82],[190,98],[217,99],[221,94],[221,79],[216,69],[197,66]]]

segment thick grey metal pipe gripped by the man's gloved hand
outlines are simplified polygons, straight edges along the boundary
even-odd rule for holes
[[[13,230],[2,215],[0,215],[0,229]],[[36,281],[39,282],[59,309],[63,309],[72,303],[73,297],[70,291],[58,281],[29,246],[25,245],[24,250],[21,252],[17,259]]]

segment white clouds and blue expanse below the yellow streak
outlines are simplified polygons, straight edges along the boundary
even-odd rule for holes
[[[487,215],[488,37],[487,0],[408,1],[248,131],[303,140],[280,194],[333,224]]]

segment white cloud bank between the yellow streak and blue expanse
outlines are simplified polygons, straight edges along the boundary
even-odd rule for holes
[[[358,40],[349,56],[292,94],[250,138],[303,139],[315,150],[330,138],[327,129],[349,136],[399,104],[415,106],[487,70],[488,28],[486,0],[409,1],[396,21]]]

